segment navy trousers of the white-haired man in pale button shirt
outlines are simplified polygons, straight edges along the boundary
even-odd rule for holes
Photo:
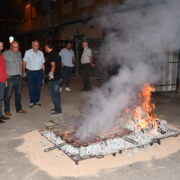
[[[29,84],[30,103],[37,103],[40,101],[41,86],[43,80],[43,71],[27,70],[27,78]]]

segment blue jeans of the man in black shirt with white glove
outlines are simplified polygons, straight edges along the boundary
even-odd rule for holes
[[[52,102],[54,104],[54,110],[56,113],[61,113],[61,96],[60,96],[60,80],[48,81],[48,88],[50,90],[50,95]]]

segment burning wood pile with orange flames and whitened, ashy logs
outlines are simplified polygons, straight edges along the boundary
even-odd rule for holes
[[[116,116],[117,120],[121,122],[122,119],[127,119],[127,127],[134,131],[165,133],[167,122],[154,114],[155,104],[151,103],[154,91],[155,88],[150,84],[144,84],[138,95],[137,104],[126,109],[124,113],[119,113]]]

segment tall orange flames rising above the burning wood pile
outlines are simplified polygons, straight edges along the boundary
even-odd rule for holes
[[[138,106],[133,112],[137,129],[157,128],[157,117],[153,113],[155,104],[151,103],[152,92],[155,88],[150,84],[144,84],[138,97]]]

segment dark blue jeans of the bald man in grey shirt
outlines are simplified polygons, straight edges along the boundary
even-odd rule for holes
[[[22,109],[21,105],[21,93],[22,93],[22,81],[21,76],[11,76],[7,79],[8,87],[5,88],[5,96],[4,96],[4,106],[5,112],[10,112],[10,99],[12,92],[14,90],[15,93],[15,107],[16,111],[20,111]]]

